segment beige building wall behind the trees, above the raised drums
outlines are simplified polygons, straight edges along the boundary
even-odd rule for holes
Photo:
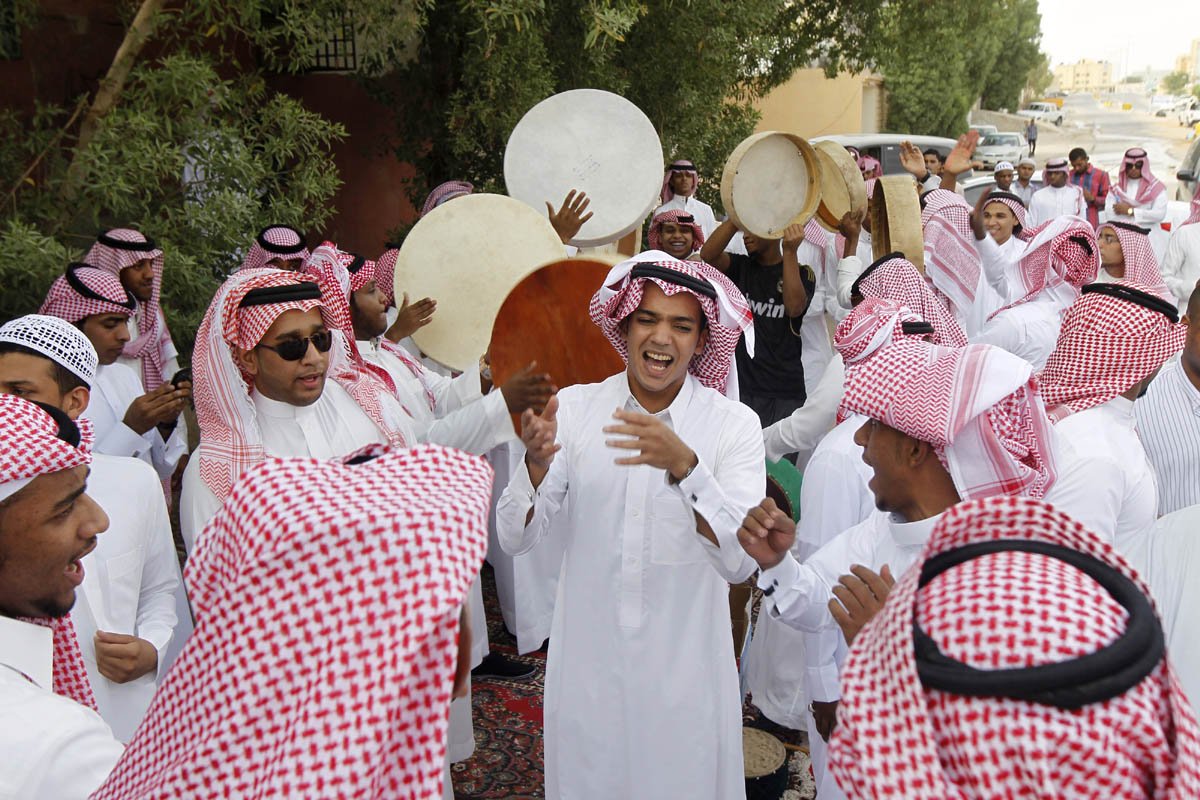
[[[755,107],[758,131],[787,131],[806,139],[833,133],[877,133],[883,127],[883,82],[878,76],[820,68],[798,70]]]

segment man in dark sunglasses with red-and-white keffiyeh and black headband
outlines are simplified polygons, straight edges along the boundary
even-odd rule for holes
[[[395,396],[334,329],[302,275],[245,270],[217,291],[192,366],[200,445],[180,503],[190,551],[238,476],[268,456],[337,458],[416,440]]]

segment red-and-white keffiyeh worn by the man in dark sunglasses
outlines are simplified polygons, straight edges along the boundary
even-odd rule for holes
[[[192,392],[200,426],[200,479],[218,498],[227,497],[246,469],[266,457],[258,415],[250,391],[253,381],[238,366],[232,348],[248,350],[262,342],[280,314],[287,311],[322,309],[334,332],[329,379],[336,380],[391,444],[404,444],[403,434],[380,403],[386,387],[346,354],[344,335],[329,318],[323,300],[298,300],[239,308],[253,289],[284,287],[310,281],[296,272],[244,270],[227,279],[204,314],[196,333]]]

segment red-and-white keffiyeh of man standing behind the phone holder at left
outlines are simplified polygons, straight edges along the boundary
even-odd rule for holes
[[[127,242],[128,247],[118,242]],[[170,343],[170,331],[162,315],[162,251],[157,247],[148,249],[152,242],[139,230],[113,228],[106,230],[91,246],[84,261],[106,272],[121,277],[121,270],[138,261],[151,259],[154,263],[154,290],[148,302],[139,302],[133,319],[138,324],[138,337],[125,345],[122,355],[142,361],[142,384],[145,390],[158,389],[170,375],[163,375],[163,348]]]

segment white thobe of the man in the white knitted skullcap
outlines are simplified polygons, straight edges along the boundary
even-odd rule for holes
[[[169,666],[167,648],[179,622],[179,560],[162,486],[152,469],[136,458],[97,453],[88,494],[108,515],[108,530],[83,560],[83,585],[71,619],[100,715],[118,739],[128,741]],[[127,684],[104,678],[96,666],[96,631],[145,639],[158,654],[157,669]]]

